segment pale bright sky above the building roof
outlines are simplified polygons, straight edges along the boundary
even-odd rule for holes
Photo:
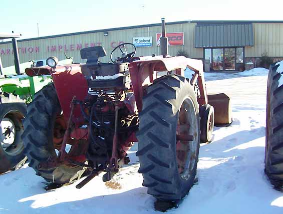
[[[24,38],[184,20],[283,20],[281,1],[16,0],[0,3],[0,32]]]

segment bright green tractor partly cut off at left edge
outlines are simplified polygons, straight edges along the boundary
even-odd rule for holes
[[[25,74],[25,69],[33,67],[34,61],[20,64],[16,40],[20,36],[0,34],[0,40],[12,39],[15,61],[15,68],[3,68],[0,58],[0,173],[17,169],[27,160],[21,139],[26,105],[36,92],[52,82],[50,75],[29,77]],[[61,64],[72,62],[72,58],[60,61]]]

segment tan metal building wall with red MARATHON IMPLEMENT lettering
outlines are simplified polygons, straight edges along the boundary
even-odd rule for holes
[[[184,45],[183,46],[169,46],[169,54],[174,56],[176,55],[178,50],[184,50],[188,52],[191,58],[202,58],[203,50],[194,48],[194,31],[195,31],[195,23],[186,23],[186,24],[174,24],[167,25],[166,32],[174,33],[174,32],[184,32]],[[115,30],[108,31],[108,36],[104,36],[104,32],[98,33],[88,33],[88,34],[80,34],[80,35],[72,35],[72,36],[63,36],[63,37],[55,37],[55,38],[45,38],[38,40],[29,40],[29,41],[19,41],[18,47],[20,49],[20,62],[27,62],[29,60],[41,60],[46,59],[50,56],[56,56],[59,60],[63,60],[64,56],[64,45],[66,45],[66,54],[67,56],[72,56],[74,58],[74,62],[85,62],[81,60],[80,51],[77,50],[77,45],[82,45],[85,47],[85,44],[89,46],[91,43],[95,45],[104,46],[107,56],[102,60],[104,62],[109,61],[109,55],[112,51],[111,44],[116,46],[119,42],[130,42],[132,43],[133,37],[144,37],[151,36],[153,40],[152,47],[138,47],[136,56],[151,56],[152,54],[159,55],[160,47],[156,46],[156,33],[161,33],[161,26],[153,26],[153,27],[143,27],[143,28],[135,28],[135,29],[127,29],[127,30]],[[101,44],[99,44],[101,43]],[[70,50],[70,45],[74,45],[74,50]],[[56,46],[56,51],[51,51],[51,47]],[[59,47],[63,48],[59,51]],[[39,52],[35,53],[35,48],[39,47]],[[49,47],[49,50],[48,50]],[[22,53],[25,51],[26,53]],[[33,53],[29,53],[29,48],[33,48]],[[5,50],[5,54],[1,54],[2,49]],[[7,54],[7,49],[10,49],[10,55]],[[32,49],[30,49],[32,51]],[[13,54],[12,54],[12,44],[1,44],[0,43],[0,56],[2,58],[3,66],[11,66],[14,64]]]

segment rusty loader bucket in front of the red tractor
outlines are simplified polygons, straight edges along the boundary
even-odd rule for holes
[[[225,125],[232,123],[232,108],[230,97],[224,93],[208,94],[208,104],[214,108],[214,124]]]

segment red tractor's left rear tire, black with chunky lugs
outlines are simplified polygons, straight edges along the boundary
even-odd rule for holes
[[[74,165],[60,165],[51,169],[39,168],[41,162],[57,155],[55,146],[63,140],[64,129],[54,132],[54,128],[58,129],[60,125],[56,121],[61,112],[54,85],[45,86],[36,93],[35,99],[28,105],[27,116],[24,119],[25,131],[22,135],[25,154],[30,161],[29,166],[33,167],[37,175],[56,184],[70,183],[80,178],[85,171],[83,167]]]

